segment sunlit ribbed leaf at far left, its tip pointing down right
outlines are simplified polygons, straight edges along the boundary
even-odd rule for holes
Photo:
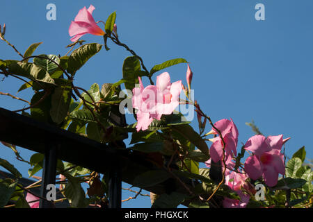
[[[47,70],[28,62],[12,62],[8,65],[8,72],[17,76],[23,76],[31,80],[38,80],[42,83],[56,85]]]

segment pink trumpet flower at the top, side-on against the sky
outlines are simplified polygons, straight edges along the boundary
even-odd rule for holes
[[[93,10],[95,7],[90,5],[88,9],[86,6],[79,10],[77,16],[74,21],[70,24],[70,28],[68,29],[68,33],[72,42],[79,40],[79,38],[87,33],[93,35],[104,35],[104,31],[95,23],[93,19]]]

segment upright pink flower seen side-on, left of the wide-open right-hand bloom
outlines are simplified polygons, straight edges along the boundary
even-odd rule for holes
[[[238,143],[238,129],[236,128],[236,125],[234,122],[228,119],[221,119],[220,121],[217,121],[214,123],[214,126],[220,130],[220,133],[224,139],[225,142],[225,155],[226,157],[230,155],[237,155],[237,143]],[[218,132],[212,128],[212,133],[218,134]],[[218,160],[223,160],[223,142],[220,137],[215,137],[214,139],[211,139],[213,144],[210,147],[210,155],[214,162],[218,162]],[[226,158],[228,159],[228,157]]]

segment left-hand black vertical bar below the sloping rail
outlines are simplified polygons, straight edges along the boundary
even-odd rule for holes
[[[56,144],[45,145],[45,159],[42,167],[42,184],[40,196],[47,198],[47,185],[56,184]],[[40,199],[40,208],[54,208],[54,203]]]

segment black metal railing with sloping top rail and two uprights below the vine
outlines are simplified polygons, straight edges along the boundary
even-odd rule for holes
[[[115,121],[125,123],[125,119],[114,118]],[[93,139],[3,108],[0,108],[0,126],[0,141],[45,154],[42,170],[42,196],[47,194],[45,187],[56,182],[57,159],[98,173],[109,172],[109,207],[112,208],[121,207],[122,181],[133,185],[136,176],[156,169],[155,165],[146,160],[141,152],[109,147]],[[166,181],[153,187],[145,187],[145,190],[154,194],[163,194],[169,186],[171,190],[186,192],[175,180],[170,180],[170,185]],[[51,201],[41,200],[40,207],[54,207],[54,205]]]

